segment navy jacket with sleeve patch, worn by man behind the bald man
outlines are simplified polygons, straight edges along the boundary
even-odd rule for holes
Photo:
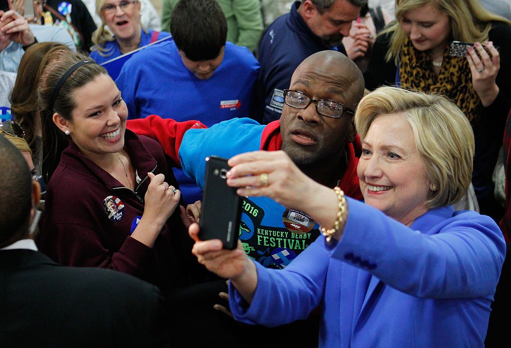
[[[297,11],[299,5],[300,2],[295,2],[291,12],[275,19],[259,43],[261,70],[257,105],[263,114],[263,123],[281,117],[284,89],[289,88],[294,70],[304,59],[327,49],[336,49],[346,54],[342,44],[339,47],[329,47],[310,30]]]

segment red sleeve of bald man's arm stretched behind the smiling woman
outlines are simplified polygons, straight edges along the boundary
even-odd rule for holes
[[[192,128],[207,128],[200,121],[178,122],[172,118],[150,115],[146,118],[130,119],[126,127],[138,135],[158,140],[165,153],[179,165],[179,146],[184,133]]]

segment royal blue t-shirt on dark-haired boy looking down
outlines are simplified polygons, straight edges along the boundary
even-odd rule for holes
[[[184,66],[176,44],[162,42],[128,60],[115,83],[128,106],[129,118],[159,115],[176,121],[199,120],[207,127],[251,117],[252,88],[259,63],[246,47],[225,44],[224,59],[213,76],[199,80]],[[174,169],[184,201],[194,203],[202,191]]]

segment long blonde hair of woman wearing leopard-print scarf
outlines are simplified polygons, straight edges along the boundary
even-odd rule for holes
[[[406,11],[413,11],[432,3],[440,12],[449,16],[451,39],[465,42],[483,42],[488,39],[492,21],[501,21],[511,25],[511,21],[487,11],[479,0],[396,0],[396,21],[383,30],[380,35],[392,33],[390,47],[385,61],[392,58],[398,63],[406,34],[401,27],[401,19]]]

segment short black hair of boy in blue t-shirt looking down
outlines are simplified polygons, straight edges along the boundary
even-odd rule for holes
[[[195,62],[215,59],[227,40],[227,21],[215,0],[180,0],[170,20],[180,51]]]

